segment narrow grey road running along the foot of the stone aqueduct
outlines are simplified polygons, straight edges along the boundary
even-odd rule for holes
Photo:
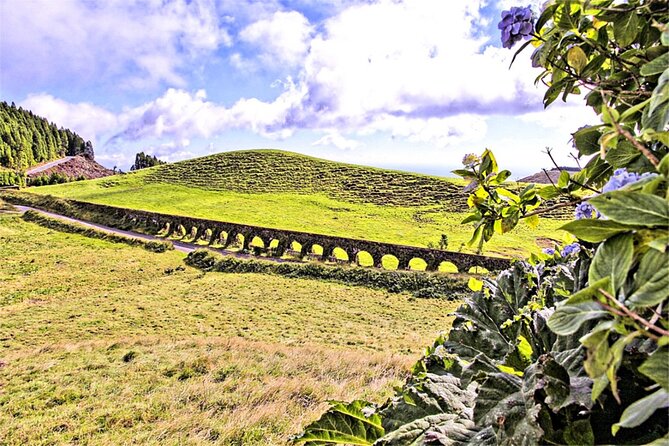
[[[286,262],[304,263],[304,262],[299,261],[299,260],[277,259],[277,258],[272,258],[272,257],[258,257],[258,256],[254,256],[252,254],[246,254],[246,253],[241,253],[241,252],[237,252],[237,251],[230,251],[230,250],[227,250],[227,249],[212,248],[212,247],[207,246],[207,245],[198,245],[198,244],[195,244],[195,243],[182,242],[180,240],[171,240],[171,239],[166,239],[166,238],[162,238],[162,237],[156,237],[154,235],[142,234],[142,233],[139,233],[139,232],[124,231],[122,229],[116,229],[116,228],[112,228],[110,226],[99,225],[97,223],[90,223],[90,222],[87,222],[85,220],[79,220],[79,219],[76,219],[76,218],[66,217],[66,216],[61,215],[61,214],[56,214],[54,212],[49,212],[49,211],[45,211],[45,210],[42,210],[42,209],[33,208],[33,207],[30,207],[30,206],[14,205],[14,207],[16,209],[18,209],[20,213],[24,213],[26,211],[35,211],[35,212],[39,212],[40,214],[46,215],[46,216],[51,217],[51,218],[57,218],[59,220],[63,220],[63,221],[69,222],[69,223],[76,223],[76,224],[79,224],[79,225],[82,225],[82,226],[86,226],[88,228],[93,228],[93,229],[97,229],[97,230],[100,230],[100,231],[103,231],[103,232],[107,232],[109,234],[122,235],[122,236],[125,236],[125,237],[132,237],[132,238],[148,240],[148,241],[156,241],[156,242],[169,241],[169,242],[172,242],[172,244],[174,245],[175,250],[180,251],[180,252],[184,252],[186,254],[189,253],[189,252],[195,251],[196,249],[205,248],[205,249],[209,249],[210,251],[214,251],[214,252],[224,254],[224,255],[228,255],[228,256],[234,256],[234,257],[237,257],[239,259],[261,259],[261,260],[276,262],[276,263],[286,263]]]

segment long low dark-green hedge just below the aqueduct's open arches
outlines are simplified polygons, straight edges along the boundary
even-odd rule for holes
[[[347,285],[382,289],[391,293],[413,292],[416,297],[460,299],[467,289],[465,279],[439,273],[383,271],[370,268],[330,266],[317,263],[276,263],[240,260],[201,249],[188,254],[186,264],[204,271],[264,273],[285,277],[328,280]]]

